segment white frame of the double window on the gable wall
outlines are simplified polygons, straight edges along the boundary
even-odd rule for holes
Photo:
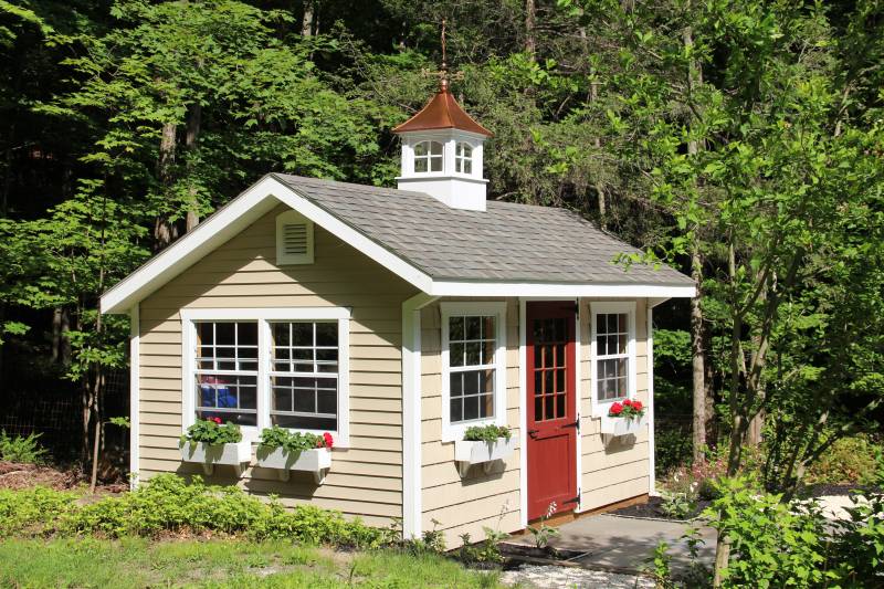
[[[335,445],[350,443],[350,309],[346,307],[293,308],[182,308],[181,315],[181,432],[196,421],[197,322],[257,322],[257,425],[243,425],[243,440],[256,442],[261,430],[271,427],[271,323],[337,322],[338,324],[338,408]],[[292,430],[324,433],[325,430]]]

